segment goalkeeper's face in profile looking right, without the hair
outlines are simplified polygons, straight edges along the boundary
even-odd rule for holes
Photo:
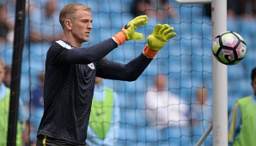
[[[71,32],[76,42],[82,44],[88,42],[92,26],[92,14],[87,10],[78,10],[75,18],[71,20]]]

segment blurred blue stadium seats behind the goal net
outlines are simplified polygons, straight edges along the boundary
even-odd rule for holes
[[[44,9],[46,0],[34,0],[27,2],[27,7],[35,7],[36,9]],[[9,0],[0,0],[9,7],[8,19],[15,22],[14,3]],[[90,33],[88,43],[84,46],[95,44],[106,38],[110,38],[116,32],[125,26],[129,20],[133,18],[131,12],[132,0],[59,0],[58,7],[61,9],[67,3],[84,3],[92,8],[94,29]],[[162,135],[153,126],[148,126],[145,118],[144,93],[150,85],[153,85],[156,74],[164,73],[168,75],[168,90],[180,96],[182,100],[189,106],[197,104],[195,102],[196,89],[200,86],[206,87],[210,92],[212,90],[211,79],[211,20],[206,15],[206,7],[204,4],[179,4],[174,0],[169,0],[174,6],[178,18],[168,18],[160,21],[157,18],[150,18],[146,26],[139,27],[137,32],[143,32],[143,40],[129,41],[119,46],[107,55],[112,61],[128,62],[135,56],[139,55],[144,45],[146,37],[152,32],[155,24],[168,23],[174,26],[177,37],[173,38],[166,46],[155,56],[154,61],[143,72],[142,76],[135,82],[122,82],[106,80],[106,84],[113,87],[120,96],[121,122],[120,134],[118,137],[119,145],[164,145],[171,143],[172,139],[180,141],[180,145],[192,145],[192,137],[200,137],[207,127],[203,127],[202,131],[194,133],[192,131],[175,131],[168,137]],[[25,28],[25,46],[22,55],[21,70],[21,96],[26,108],[25,118],[30,120],[31,108],[31,91],[35,86],[39,85],[38,74],[44,70],[46,51],[49,43],[43,41],[33,44],[28,38],[29,25],[40,25],[40,32],[49,32],[46,26],[52,24],[45,22],[32,21],[33,15],[40,13],[32,13],[27,15]],[[35,17],[40,17],[37,15]],[[239,64],[228,67],[228,94],[229,94],[229,110],[235,100],[241,96],[252,94],[250,86],[250,71],[255,66],[255,19],[245,20],[242,18],[228,18],[228,30],[241,34],[247,43],[247,56]],[[60,26],[57,26],[60,27]],[[51,28],[50,28],[51,30]],[[10,40],[11,33],[9,32]],[[54,34],[53,34],[54,35]],[[12,42],[1,44],[0,57],[6,64],[12,62],[13,46]],[[206,106],[211,107],[211,100]],[[202,111],[203,114],[203,111]],[[203,116],[204,117],[204,116]],[[202,119],[201,122],[210,123],[210,121]],[[186,139],[186,140],[183,140]],[[209,137],[210,145],[211,135]]]

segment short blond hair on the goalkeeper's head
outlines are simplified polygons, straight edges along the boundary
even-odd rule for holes
[[[82,3],[70,3],[64,6],[64,8],[59,13],[59,23],[64,29],[64,20],[72,20],[78,10],[87,10],[91,12],[91,8]]]

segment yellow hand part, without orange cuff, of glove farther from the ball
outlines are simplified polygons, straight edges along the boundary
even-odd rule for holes
[[[139,32],[135,32],[137,26],[143,26],[148,23],[147,15],[140,15],[129,21],[123,28],[122,32],[125,33],[126,40],[137,39],[140,40],[143,38],[143,34]]]

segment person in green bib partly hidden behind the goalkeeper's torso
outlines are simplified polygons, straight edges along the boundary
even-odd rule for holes
[[[86,142],[90,146],[114,146],[119,136],[119,99],[113,89],[95,79],[94,98]]]

